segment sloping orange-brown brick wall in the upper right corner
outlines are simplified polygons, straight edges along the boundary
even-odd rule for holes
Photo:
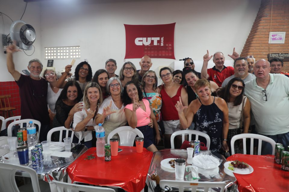
[[[285,44],[268,43],[270,28],[271,32],[286,32]],[[253,27],[240,56],[254,55],[256,61],[268,60],[268,53],[289,53],[289,0],[261,1]],[[284,61],[283,71],[289,71],[289,61]]]

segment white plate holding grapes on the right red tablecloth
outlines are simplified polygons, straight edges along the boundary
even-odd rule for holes
[[[224,167],[226,170],[229,170],[233,173],[238,173],[241,175],[246,175],[246,174],[250,174],[254,171],[253,167],[251,167],[250,165],[248,165],[247,163],[243,162],[243,161],[227,161],[224,163]]]

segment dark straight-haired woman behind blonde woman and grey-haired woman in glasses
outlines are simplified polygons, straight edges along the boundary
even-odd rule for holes
[[[99,69],[94,73],[92,82],[97,82],[101,88],[102,98],[106,99],[109,96],[109,93],[106,91],[106,84],[108,81],[108,73],[104,69]]]

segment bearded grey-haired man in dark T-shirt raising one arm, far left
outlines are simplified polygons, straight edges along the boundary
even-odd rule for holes
[[[30,75],[26,76],[15,70],[13,53],[18,51],[15,45],[7,48],[7,69],[19,86],[21,101],[21,119],[35,119],[41,122],[40,141],[46,141],[49,125],[49,115],[47,108],[47,88],[45,79],[41,78],[40,73],[43,65],[39,59],[29,61],[28,70]],[[36,125],[36,128],[38,126]]]

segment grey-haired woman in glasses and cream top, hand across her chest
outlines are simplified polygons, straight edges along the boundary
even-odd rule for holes
[[[96,124],[102,123],[105,129],[105,142],[107,143],[107,136],[111,131],[118,127],[125,126],[127,123],[124,114],[123,101],[121,93],[123,87],[118,77],[111,77],[106,84],[106,90],[110,96],[102,102],[96,115]]]

